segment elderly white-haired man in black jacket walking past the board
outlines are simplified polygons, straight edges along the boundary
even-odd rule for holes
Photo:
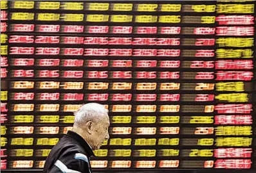
[[[89,158],[109,138],[108,111],[102,104],[84,104],[75,113],[73,129],[58,142],[46,159],[44,173],[91,172]]]

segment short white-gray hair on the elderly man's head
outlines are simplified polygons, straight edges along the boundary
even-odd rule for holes
[[[98,103],[87,103],[81,106],[75,113],[75,126],[84,126],[86,122],[98,122],[102,115],[108,113],[104,105]]]

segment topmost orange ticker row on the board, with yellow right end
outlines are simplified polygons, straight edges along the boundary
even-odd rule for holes
[[[42,89],[42,90],[215,90],[219,92],[248,92],[253,90],[253,86],[248,82],[218,82],[218,83],[130,83],[130,82],[80,82],[80,81],[1,81],[1,88],[3,91],[9,89]],[[134,85],[134,87],[133,87]],[[111,91],[112,92],[112,91]],[[4,93],[3,93],[4,94]],[[6,95],[6,94],[4,94]],[[101,95],[98,95],[101,97]],[[3,98],[5,98],[4,96]],[[98,99],[96,99],[98,100]]]

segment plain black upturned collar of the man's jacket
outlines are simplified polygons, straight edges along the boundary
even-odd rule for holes
[[[82,147],[84,147],[84,149],[86,150],[88,157],[95,156],[93,150],[91,149],[91,146],[86,142],[86,140],[84,140],[84,138],[82,138],[82,136],[78,135],[77,133],[75,133],[73,131],[68,131],[68,133],[66,135],[73,138],[80,145],[82,145]]]

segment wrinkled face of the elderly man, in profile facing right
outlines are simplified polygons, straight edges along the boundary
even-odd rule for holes
[[[93,150],[100,149],[105,140],[109,139],[109,116],[106,114],[100,122],[94,124],[91,136],[93,137]]]

